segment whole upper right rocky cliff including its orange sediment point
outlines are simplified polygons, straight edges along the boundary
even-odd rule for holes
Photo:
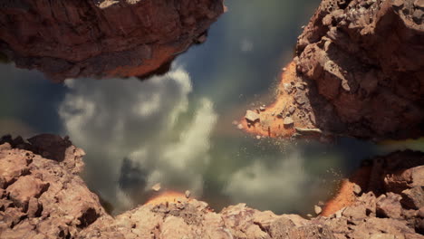
[[[423,14],[422,0],[324,0],[284,68],[276,103],[258,110],[260,127],[248,129],[272,137],[423,136]]]

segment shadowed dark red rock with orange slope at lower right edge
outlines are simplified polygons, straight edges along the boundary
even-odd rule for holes
[[[398,151],[367,160],[367,164],[370,165],[361,167],[349,179],[342,181],[338,194],[325,204],[322,215],[332,215],[343,207],[351,206],[364,192],[372,192],[376,196],[394,193],[401,196],[402,199],[397,201],[407,209],[424,206],[424,191],[419,189],[424,185],[422,153]]]

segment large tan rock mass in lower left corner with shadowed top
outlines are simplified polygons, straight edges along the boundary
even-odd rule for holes
[[[71,238],[107,217],[85,186],[81,148],[40,135],[0,139],[0,237]]]

